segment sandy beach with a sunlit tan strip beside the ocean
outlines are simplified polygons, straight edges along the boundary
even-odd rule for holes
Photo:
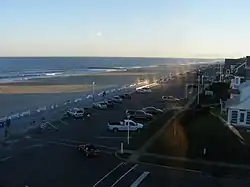
[[[168,75],[170,69],[133,69],[127,72],[107,72],[68,77],[38,78],[0,84],[0,117],[73,100],[86,93],[135,83],[141,78],[153,80]]]

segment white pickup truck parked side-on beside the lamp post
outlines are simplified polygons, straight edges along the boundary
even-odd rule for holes
[[[136,123],[132,120],[122,120],[120,122],[109,122],[108,130],[110,131],[140,131],[143,128],[143,124]]]

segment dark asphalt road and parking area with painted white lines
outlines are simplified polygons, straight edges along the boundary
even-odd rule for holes
[[[78,187],[78,186],[249,186],[248,181],[214,179],[200,173],[152,165],[122,163],[114,156],[126,134],[107,131],[110,120],[121,120],[126,109],[145,106],[167,107],[162,95],[184,97],[185,83],[170,81],[148,94],[133,94],[132,100],[114,109],[93,110],[86,120],[55,119],[52,129],[30,132],[12,140],[1,150],[0,186],[5,187]],[[133,137],[132,137],[133,138]],[[101,155],[86,158],[76,150],[81,143],[98,144]],[[114,149],[113,149],[114,148]],[[140,183],[141,182],[141,183]],[[237,185],[236,185],[237,184]]]

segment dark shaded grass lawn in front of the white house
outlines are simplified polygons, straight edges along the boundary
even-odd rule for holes
[[[187,111],[181,119],[168,126],[148,152],[192,159],[250,163],[249,148],[207,111],[196,114]]]

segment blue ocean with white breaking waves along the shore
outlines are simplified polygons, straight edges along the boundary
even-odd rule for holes
[[[0,57],[0,82],[127,71],[133,68],[139,69],[159,65],[180,65],[208,61],[211,60],[119,57]]]

